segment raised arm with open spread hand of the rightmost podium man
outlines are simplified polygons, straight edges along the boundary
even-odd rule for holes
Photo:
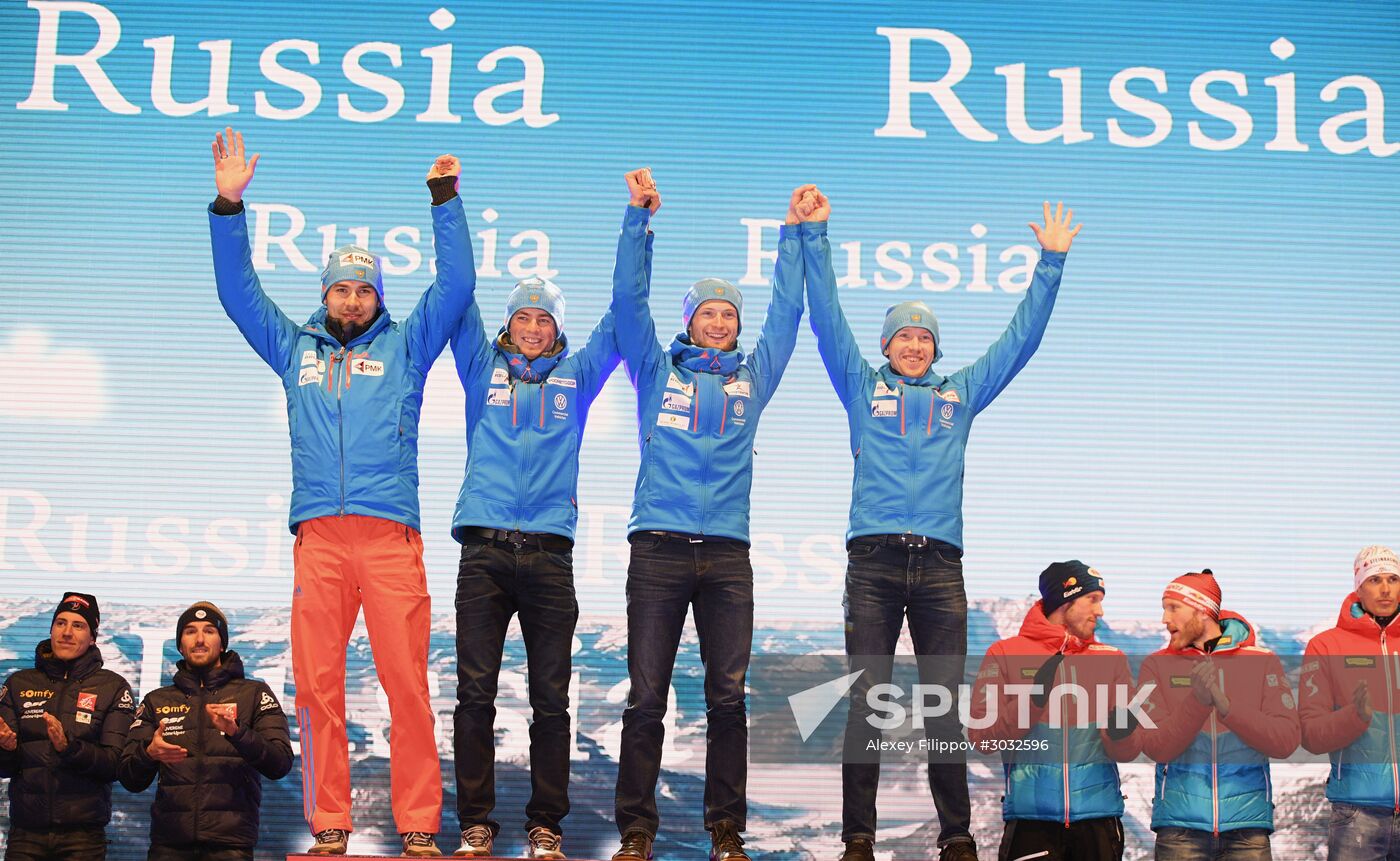
[[[1074,210],[1065,210],[1063,203],[1056,207],[1054,214],[1046,203],[1044,218],[1043,227],[1030,223],[1030,230],[1040,242],[1040,262],[1036,263],[1025,298],[1021,300],[1001,337],[981,358],[960,371],[967,388],[966,400],[974,413],[984,410],[1021,372],[1021,368],[1026,367],[1040,347],[1040,339],[1050,322],[1050,312],[1060,290],[1060,274],[1064,272],[1064,258],[1084,225],[1070,228]]]

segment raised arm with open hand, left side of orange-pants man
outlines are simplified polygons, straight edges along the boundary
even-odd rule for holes
[[[209,207],[209,238],[214,249],[218,302],[248,346],[281,374],[291,364],[297,325],[263,293],[253,270],[248,217],[244,213],[244,189],[252,182],[259,155],[246,158],[244,136],[232,129],[216,134],[211,147],[218,197]]]

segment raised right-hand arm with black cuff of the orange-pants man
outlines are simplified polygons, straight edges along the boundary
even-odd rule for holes
[[[423,293],[419,304],[403,321],[409,356],[421,374],[447,346],[476,290],[476,262],[466,211],[458,196],[462,164],[455,155],[438,155],[428,169],[433,192],[433,246],[437,255],[437,279]]]

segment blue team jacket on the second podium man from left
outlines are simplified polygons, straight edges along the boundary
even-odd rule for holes
[[[588,407],[617,367],[613,316],[603,318],[578,353],[567,342],[542,382],[521,379],[521,356],[487,340],[473,301],[452,336],[456,375],[466,391],[466,477],[452,533],[462,526],[549,532],[574,538],[578,524],[578,449]],[[538,360],[536,360],[538,361]]]

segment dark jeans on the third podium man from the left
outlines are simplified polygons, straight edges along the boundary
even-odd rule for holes
[[[748,813],[749,725],[743,700],[753,648],[753,567],[742,542],[633,533],[627,566],[627,708],[617,762],[617,830],[657,833],[662,718],[686,612],[694,606],[704,664],[704,823]]]

